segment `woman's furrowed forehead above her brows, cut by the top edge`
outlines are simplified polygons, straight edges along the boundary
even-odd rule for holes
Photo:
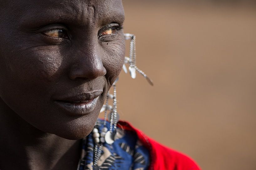
[[[1,2],[1,1],[0,1]],[[97,22],[99,19],[124,20],[122,0],[9,0],[2,6],[16,19],[80,19]]]

